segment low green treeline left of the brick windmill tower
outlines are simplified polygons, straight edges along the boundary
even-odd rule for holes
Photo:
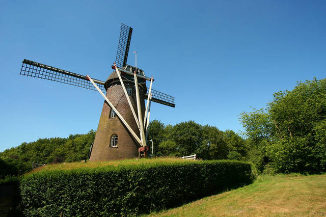
[[[0,153],[0,179],[31,171],[32,162],[52,164],[87,159],[94,138],[95,131],[91,130],[83,135],[70,135],[67,139],[39,139],[7,149]]]

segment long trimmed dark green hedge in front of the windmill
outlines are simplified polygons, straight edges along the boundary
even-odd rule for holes
[[[26,216],[134,215],[250,184],[251,165],[213,160],[39,171],[21,179]]]

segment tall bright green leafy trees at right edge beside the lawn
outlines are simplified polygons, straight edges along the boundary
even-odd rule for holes
[[[260,172],[326,171],[326,78],[279,91],[265,110],[244,112],[240,121]]]

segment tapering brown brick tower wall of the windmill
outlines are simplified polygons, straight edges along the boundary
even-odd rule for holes
[[[111,84],[108,85],[108,89],[106,92],[106,97],[112,102],[112,104],[117,108],[122,117],[126,120],[132,130],[139,136],[140,132],[135,122],[130,106],[128,104],[127,98],[124,94],[123,88],[120,82],[117,82],[119,79],[109,81]],[[113,83],[114,82],[114,83]],[[137,99],[134,83],[127,82],[124,80],[125,87],[132,88],[132,96],[128,96],[130,98],[131,104],[134,108],[135,113],[137,112]],[[140,101],[142,108],[142,118],[144,119],[145,114],[145,100],[144,93],[146,87],[143,89],[140,87]],[[117,159],[125,159],[132,158],[138,156],[138,148],[140,145],[133,139],[132,135],[128,132],[127,128],[120,121],[118,117],[110,118],[111,108],[104,101],[101,117],[98,123],[94,145],[91,153],[90,160],[98,161],[98,160],[117,160]],[[118,145],[117,147],[109,147],[111,136],[113,134],[118,135]]]

